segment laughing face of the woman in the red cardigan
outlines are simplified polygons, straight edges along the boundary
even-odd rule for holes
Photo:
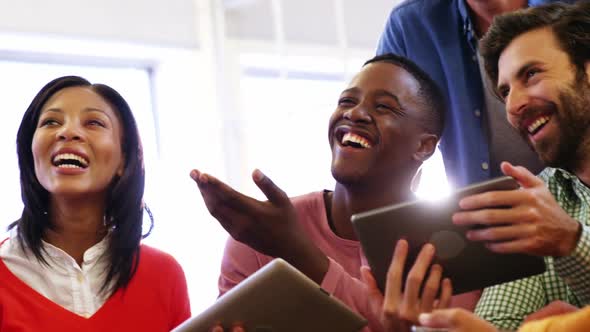
[[[92,89],[70,87],[43,106],[33,135],[35,174],[50,195],[104,196],[124,168],[116,110]]]

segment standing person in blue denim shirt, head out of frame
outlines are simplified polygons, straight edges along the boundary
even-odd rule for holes
[[[406,0],[392,10],[377,54],[407,57],[441,87],[449,112],[440,151],[453,186],[501,176],[502,161],[533,173],[542,170],[534,151],[506,122],[478,40],[494,16],[555,1]]]

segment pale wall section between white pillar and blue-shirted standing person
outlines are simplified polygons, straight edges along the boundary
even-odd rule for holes
[[[344,46],[374,50],[400,0],[225,0],[232,39]],[[278,7],[278,8],[277,8]],[[281,26],[282,31],[276,31]]]

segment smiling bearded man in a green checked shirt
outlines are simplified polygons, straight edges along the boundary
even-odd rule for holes
[[[522,188],[467,197],[453,216],[487,226],[467,238],[492,251],[546,257],[544,274],[488,288],[478,303],[480,317],[516,329],[544,306],[590,304],[590,4],[502,15],[480,46],[508,121],[549,166],[537,178],[503,163]]]

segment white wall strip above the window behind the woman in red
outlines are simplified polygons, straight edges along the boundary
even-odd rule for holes
[[[2,0],[0,31],[197,47],[194,0]]]

